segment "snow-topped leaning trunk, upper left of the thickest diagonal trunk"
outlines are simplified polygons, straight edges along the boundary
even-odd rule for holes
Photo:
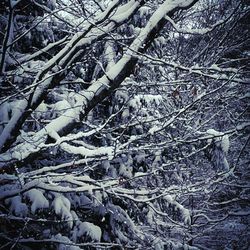
[[[136,7],[133,8],[133,12],[128,13],[130,16],[132,16],[136,9],[139,7],[139,3],[142,4],[143,1],[139,1],[137,3],[138,4],[136,4]],[[116,3],[113,2],[112,6],[112,8],[115,8]],[[119,6],[118,10],[119,8],[122,8],[122,6]],[[96,22],[97,24],[102,24],[102,29],[104,29],[104,31],[96,27],[97,24],[89,24],[86,27],[85,31],[77,32],[70,40],[70,42],[68,42],[68,44],[57,55],[50,59],[40,72],[38,72],[35,78],[35,83],[40,82],[40,84],[33,89],[27,99],[23,100],[23,102],[25,102],[22,105],[23,109],[17,114],[13,115],[12,119],[9,121],[2,134],[0,135],[0,148],[2,150],[5,149],[5,147],[7,149],[10,147],[11,143],[16,139],[18,130],[21,128],[28,115],[32,113],[35,108],[43,101],[44,95],[46,94],[47,90],[53,88],[56,84],[58,84],[58,79],[60,79],[59,75],[60,77],[65,76],[64,74],[66,73],[66,71],[64,73],[59,72],[53,77],[46,78],[46,80],[44,80],[46,74],[52,69],[54,69],[54,71],[58,71],[58,69],[66,69],[69,66],[69,61],[73,63],[72,57],[74,56],[76,50],[82,50],[86,45],[91,44],[94,41],[106,36],[118,25],[117,23],[113,23],[112,21],[108,22],[108,24],[103,23],[109,14],[110,13],[107,13],[105,18],[102,18],[101,20],[98,20]],[[129,15],[127,16],[127,19],[130,18]],[[99,88],[99,86],[97,87]],[[96,91],[96,88],[94,90]],[[90,89],[90,92],[92,91],[93,89]],[[67,124],[68,123],[66,123],[66,125]]]

